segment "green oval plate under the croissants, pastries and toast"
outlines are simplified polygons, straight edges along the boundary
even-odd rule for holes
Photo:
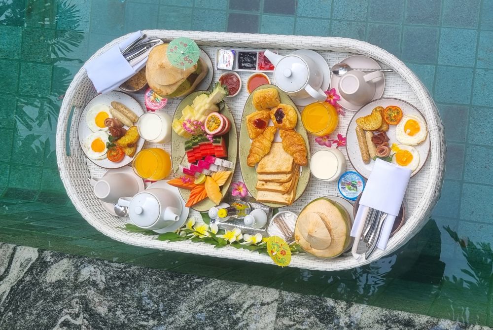
[[[292,106],[295,110],[296,113],[298,114],[298,122],[296,123],[295,130],[298,132],[303,139],[305,140],[305,144],[307,147],[307,159],[308,159],[308,164],[307,166],[300,166],[300,178],[298,180],[298,185],[296,187],[296,195],[294,197],[293,203],[301,197],[303,192],[305,192],[305,189],[308,186],[308,182],[310,181],[310,143],[308,140],[308,134],[303,127],[303,124],[301,122],[301,114],[300,111],[298,111],[298,108],[296,108],[296,105],[294,104],[293,100],[284,93],[279,87],[275,85],[261,85],[257,87],[248,97],[245,103],[245,109],[243,110],[243,116],[242,116],[242,123],[240,126],[240,140],[239,140],[239,151],[240,151],[240,168],[242,171],[242,177],[243,181],[246,184],[246,188],[250,192],[250,194],[253,196],[253,198],[257,197],[257,171],[256,167],[249,167],[246,165],[246,157],[248,155],[248,152],[250,151],[250,145],[251,145],[251,140],[250,137],[248,136],[248,130],[246,128],[246,116],[249,115],[252,112],[255,112],[256,109],[253,106],[252,100],[253,100],[253,94],[255,93],[256,90],[258,89],[264,89],[264,88],[276,88],[279,92],[279,97],[281,99],[281,103],[287,104]],[[269,126],[272,126],[272,121],[269,122]],[[276,137],[274,139],[274,142],[280,142],[281,139],[278,137],[279,133],[276,134]],[[277,203],[262,203],[264,205],[270,206],[270,207],[283,207],[286,205],[283,204],[277,204]]]

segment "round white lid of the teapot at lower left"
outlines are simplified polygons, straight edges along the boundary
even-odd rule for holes
[[[161,206],[154,195],[141,192],[132,198],[128,207],[130,220],[139,227],[149,227],[159,218]]]

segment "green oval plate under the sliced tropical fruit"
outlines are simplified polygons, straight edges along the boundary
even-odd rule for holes
[[[196,91],[193,92],[192,94],[186,96],[178,105],[175,111],[175,115],[173,116],[173,119],[179,119],[181,117],[181,111],[186,107],[192,104],[193,100],[200,94],[210,94],[211,92],[209,91]],[[224,103],[224,108],[220,111],[221,114],[226,116],[228,120],[231,122],[231,129],[229,130],[229,133],[226,135],[223,135],[223,137],[226,139],[226,145],[228,146],[228,158],[230,162],[233,163],[233,169],[231,171],[235,171],[236,167],[236,158],[238,155],[238,136],[236,135],[236,124],[235,124],[235,118],[233,117],[233,113],[229,109],[227,103]],[[185,142],[188,139],[185,139],[178,134],[174,130],[171,132],[171,159],[173,162],[173,172],[176,173],[178,171],[179,165],[183,166],[188,166],[187,158],[185,155]],[[179,174],[181,175],[181,173]],[[221,187],[221,193],[222,197],[226,195],[226,192],[229,189],[229,185],[231,184],[231,181],[233,180],[233,176],[230,175],[228,181],[224,183],[224,185]],[[182,189],[179,188],[181,197],[185,201],[188,200],[188,196],[190,196],[190,190],[187,189]],[[203,201],[195,204],[192,206],[192,209],[195,211],[199,212],[204,212],[204,211],[209,211],[209,209],[213,206],[216,206],[214,202],[212,202],[209,198],[204,199]]]

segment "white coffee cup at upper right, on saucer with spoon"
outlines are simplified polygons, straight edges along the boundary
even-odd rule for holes
[[[339,80],[339,94],[348,102],[362,106],[375,95],[375,82],[384,78],[380,71],[364,73],[352,70]]]

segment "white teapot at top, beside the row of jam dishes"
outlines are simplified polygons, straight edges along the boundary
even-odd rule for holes
[[[265,50],[265,57],[274,64],[276,85],[287,95],[300,99],[313,97],[323,102],[327,99],[321,90],[323,76],[320,68],[308,56],[288,54],[282,56]]]

